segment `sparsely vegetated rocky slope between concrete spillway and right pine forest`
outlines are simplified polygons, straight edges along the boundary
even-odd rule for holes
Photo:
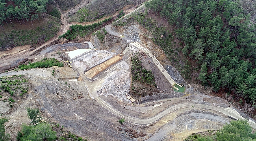
[[[129,17],[125,17],[113,23],[112,25],[115,27],[132,26],[134,23],[139,23],[142,25],[151,33],[149,36],[152,37],[152,41],[163,49],[167,58],[180,72],[180,74],[187,80],[191,80],[191,72],[193,71],[191,63],[186,59],[186,57],[181,55],[182,48],[180,47],[180,44],[178,44],[176,38],[173,36],[173,29],[171,29],[169,24],[165,23],[164,20],[160,20],[159,18],[155,20],[156,17],[150,17],[151,14],[147,15],[145,13],[134,13]]]

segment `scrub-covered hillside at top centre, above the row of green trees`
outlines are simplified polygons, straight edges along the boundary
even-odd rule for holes
[[[126,5],[137,5],[145,0],[93,0],[72,15],[70,22],[92,22],[109,16]]]

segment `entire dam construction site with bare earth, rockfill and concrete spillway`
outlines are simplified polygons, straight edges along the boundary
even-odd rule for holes
[[[247,119],[256,129],[254,119],[211,96],[211,88],[187,83],[163,50],[145,36],[143,27],[135,23],[122,30],[111,24],[104,28],[104,43],[92,35],[88,42],[60,43],[33,54],[0,58],[4,62],[0,67],[17,66],[25,57],[31,63],[46,57],[64,63],[64,67],[2,71],[0,77],[24,75],[29,87],[22,98],[14,97],[13,108],[4,102],[7,94],[0,98],[11,140],[23,123],[30,124],[26,107],[39,108],[43,121],[58,123],[88,141],[183,141],[194,132],[219,130],[232,119]],[[141,69],[152,73],[154,83],[133,79],[134,56]]]

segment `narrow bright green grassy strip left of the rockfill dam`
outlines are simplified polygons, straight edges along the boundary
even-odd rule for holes
[[[32,68],[46,68],[46,67],[52,67],[52,66],[58,66],[63,67],[63,62],[60,62],[56,60],[55,58],[44,58],[41,61],[35,62],[35,63],[29,63],[28,65],[20,65],[19,68],[21,70],[23,69],[32,69]]]

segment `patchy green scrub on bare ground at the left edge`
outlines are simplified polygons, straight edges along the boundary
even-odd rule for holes
[[[22,96],[28,92],[28,80],[24,75],[2,76],[0,77],[0,92],[1,95]],[[15,102],[12,98],[8,101]]]

